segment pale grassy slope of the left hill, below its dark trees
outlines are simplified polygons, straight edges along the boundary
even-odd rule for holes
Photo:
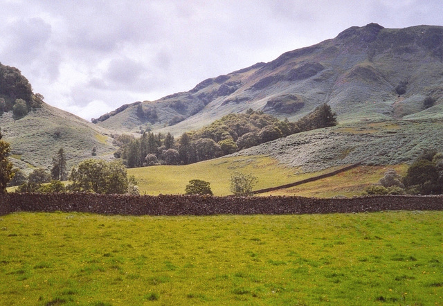
[[[3,113],[0,127],[3,139],[11,145],[10,160],[28,171],[49,168],[60,147],[69,169],[91,157],[93,147],[100,158],[111,157],[116,150],[106,129],[46,103],[20,119],[14,118],[12,111]]]

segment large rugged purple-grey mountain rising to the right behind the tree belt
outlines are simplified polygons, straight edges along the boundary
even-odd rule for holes
[[[179,135],[249,108],[293,121],[325,102],[342,123],[441,118],[442,71],[443,27],[354,26],[190,91],[123,105],[93,122],[124,132],[150,128]]]

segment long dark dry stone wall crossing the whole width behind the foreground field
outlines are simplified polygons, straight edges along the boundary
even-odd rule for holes
[[[381,210],[443,210],[443,196],[374,196],[351,199],[305,197],[211,197],[199,195],[96,195],[84,193],[0,195],[0,215],[82,212],[105,215],[282,215],[362,213]]]

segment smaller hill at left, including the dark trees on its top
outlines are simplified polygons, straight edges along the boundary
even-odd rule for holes
[[[110,132],[47,105],[15,67],[0,63],[0,128],[11,145],[11,161],[24,172],[51,168],[62,147],[68,167],[94,154],[111,158]]]

